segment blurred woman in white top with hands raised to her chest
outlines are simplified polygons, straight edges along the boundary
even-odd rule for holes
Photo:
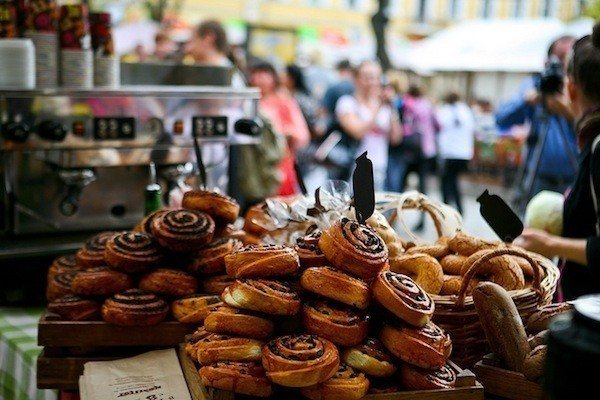
[[[368,152],[373,162],[375,190],[383,190],[388,147],[402,139],[400,118],[392,108],[392,98],[384,94],[382,71],[375,61],[365,61],[355,70],[355,90],[342,96],[335,107],[344,131],[360,144],[356,156]]]

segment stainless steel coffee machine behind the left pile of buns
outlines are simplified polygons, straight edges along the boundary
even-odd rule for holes
[[[2,236],[130,228],[151,162],[165,192],[193,179],[194,137],[207,186],[225,191],[229,146],[252,141],[234,125],[256,117],[258,98],[210,86],[0,91]]]

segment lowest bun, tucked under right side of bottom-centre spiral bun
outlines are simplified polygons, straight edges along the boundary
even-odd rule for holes
[[[301,389],[302,395],[311,400],[358,400],[369,391],[369,380],[364,374],[354,372],[352,367],[341,363],[334,376],[323,383]]]

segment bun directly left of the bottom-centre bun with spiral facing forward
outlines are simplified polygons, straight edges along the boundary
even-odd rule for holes
[[[194,334],[192,350],[195,348],[196,360],[208,365],[217,361],[260,361],[263,342],[211,333],[200,328]]]

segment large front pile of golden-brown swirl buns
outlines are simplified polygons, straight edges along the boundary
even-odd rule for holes
[[[368,225],[340,218],[295,248],[236,249],[225,271],[233,283],[220,303],[199,307],[203,325],[186,342],[206,386],[316,400],[455,385],[431,296],[389,269]]]

